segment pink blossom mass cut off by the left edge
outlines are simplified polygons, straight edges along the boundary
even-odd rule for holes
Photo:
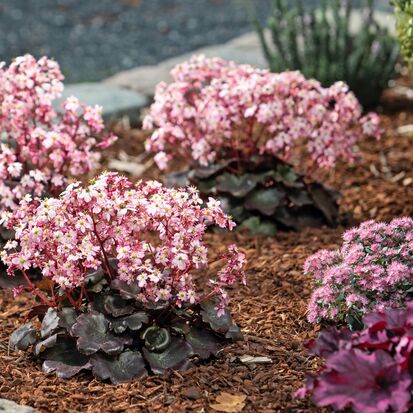
[[[59,65],[25,55],[0,64],[0,212],[13,211],[27,194],[58,195],[69,176],[88,173],[109,146],[101,108],[75,97],[61,111],[53,101],[63,91]]]

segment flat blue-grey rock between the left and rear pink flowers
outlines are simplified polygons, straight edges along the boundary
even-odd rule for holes
[[[131,120],[136,120],[140,109],[148,103],[146,96],[136,91],[96,82],[66,85],[62,98],[58,99],[56,104],[60,105],[64,99],[72,95],[88,105],[102,106],[105,120],[113,120],[125,115]]]

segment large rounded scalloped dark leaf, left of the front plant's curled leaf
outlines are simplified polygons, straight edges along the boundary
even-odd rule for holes
[[[96,311],[80,315],[71,328],[71,334],[77,337],[79,351],[86,355],[99,350],[109,355],[119,354],[124,345],[132,342],[130,337],[120,337],[110,332],[109,321]]]

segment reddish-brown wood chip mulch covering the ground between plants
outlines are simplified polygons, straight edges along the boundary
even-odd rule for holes
[[[302,346],[319,327],[306,321],[312,280],[305,276],[305,259],[320,248],[336,248],[346,227],[366,219],[390,220],[413,212],[413,138],[397,128],[413,123],[412,112],[382,114],[386,129],[380,142],[360,145],[362,161],[339,166],[320,178],[343,195],[342,225],[279,233],[275,238],[247,233],[208,234],[217,253],[235,242],[248,258],[248,286],[233,289],[231,312],[245,341],[226,347],[216,360],[185,373],[169,372],[113,386],[86,374],[70,380],[41,371],[24,353],[8,350],[11,331],[24,322],[32,305],[25,295],[14,300],[0,291],[0,398],[37,408],[40,412],[212,412],[210,405],[225,391],[246,395],[243,412],[321,412],[310,400],[295,400],[306,371],[317,361]],[[130,156],[142,152],[143,134],[123,131],[107,159],[120,151]],[[149,168],[147,176],[155,176]],[[243,364],[244,355],[265,356],[266,364]]]

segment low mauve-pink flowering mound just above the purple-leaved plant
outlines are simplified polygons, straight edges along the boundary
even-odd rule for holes
[[[304,265],[317,283],[308,320],[361,319],[369,310],[403,307],[413,291],[413,219],[367,221],[343,240],[340,249],[320,250]]]

